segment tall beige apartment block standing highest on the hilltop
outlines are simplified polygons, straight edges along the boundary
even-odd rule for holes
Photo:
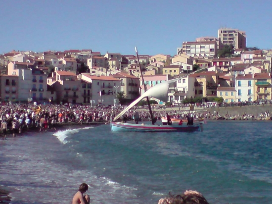
[[[220,28],[218,38],[222,45],[233,45],[234,49],[246,48],[246,33],[238,29]]]

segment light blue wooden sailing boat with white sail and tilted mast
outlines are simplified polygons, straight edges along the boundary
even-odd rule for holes
[[[135,48],[135,51],[136,51],[136,55],[138,58],[138,52],[137,52],[136,48]],[[138,63],[139,63],[139,59],[138,59]],[[139,63],[139,67],[140,67],[140,63]],[[178,81],[181,78],[165,81],[165,82],[157,84],[156,86],[147,90],[146,85],[144,83],[141,68],[140,68],[140,73],[141,73],[142,82],[144,85],[145,92],[138,99],[136,99],[134,102],[132,102],[128,107],[126,107],[122,112],[120,112],[113,120],[111,120],[110,126],[111,126],[112,131],[190,132],[190,131],[198,131],[200,129],[201,124],[183,125],[183,126],[178,125],[178,124],[177,125],[174,125],[174,124],[173,125],[156,125],[155,119],[153,117],[151,105],[149,102],[149,97],[153,97],[153,98],[156,98],[160,101],[167,102],[168,101],[168,91],[169,91],[170,85],[172,83]],[[146,101],[148,104],[148,109],[150,112],[152,124],[132,124],[132,123],[114,122],[144,98],[146,98]]]

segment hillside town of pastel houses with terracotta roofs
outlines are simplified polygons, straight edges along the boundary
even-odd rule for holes
[[[173,104],[211,97],[225,103],[269,101],[271,64],[272,50],[247,48],[246,33],[230,28],[220,28],[218,37],[183,42],[175,56],[13,50],[0,55],[0,100],[95,106],[122,99],[128,104],[144,93],[141,69],[147,89],[183,77],[169,89]]]

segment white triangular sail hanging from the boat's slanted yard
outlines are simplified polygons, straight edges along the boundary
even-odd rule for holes
[[[120,118],[125,112],[127,112],[129,109],[131,109],[134,105],[136,105],[139,101],[141,101],[145,97],[153,97],[155,99],[159,99],[163,102],[168,101],[168,91],[170,84],[178,81],[178,79],[172,79],[169,81],[165,81],[163,83],[157,84],[156,86],[148,89],[143,95],[141,95],[138,99],[136,99],[134,102],[132,102],[128,107],[126,107],[122,112],[120,112],[114,119],[117,120]]]

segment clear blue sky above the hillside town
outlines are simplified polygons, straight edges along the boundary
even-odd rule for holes
[[[271,0],[2,0],[0,54],[91,49],[177,54],[182,42],[245,31],[247,47],[272,49]]]

